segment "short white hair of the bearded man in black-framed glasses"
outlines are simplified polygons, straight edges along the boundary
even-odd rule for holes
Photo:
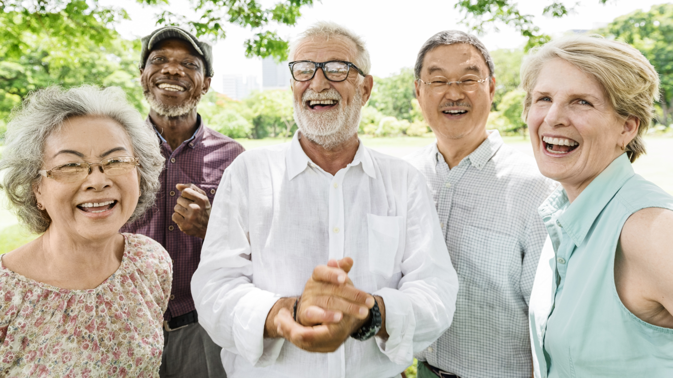
[[[335,37],[343,37],[351,40],[357,47],[357,56],[355,56],[355,65],[361,69],[365,75],[369,75],[371,69],[371,61],[369,60],[369,51],[365,47],[365,41],[361,36],[353,33],[349,28],[336,24],[336,22],[320,21],[316,22],[310,28],[304,30],[297,36],[295,40],[290,43],[289,59],[294,60],[295,51],[299,42],[306,38],[322,37],[326,40]]]

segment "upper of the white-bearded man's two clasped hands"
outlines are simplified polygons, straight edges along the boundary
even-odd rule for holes
[[[297,303],[299,324],[337,323],[344,315],[367,319],[369,309],[374,307],[374,297],[353,286],[348,278],[352,267],[352,258],[330,260],[326,266],[316,266]]]

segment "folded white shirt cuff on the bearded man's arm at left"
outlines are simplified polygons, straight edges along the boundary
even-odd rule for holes
[[[267,315],[279,299],[269,291],[255,290],[244,295],[234,309],[236,350],[254,367],[273,365],[283,348],[284,338],[264,338]]]

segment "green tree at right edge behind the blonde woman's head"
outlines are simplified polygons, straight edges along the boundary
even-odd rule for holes
[[[660,115],[657,121],[673,123],[673,4],[654,5],[649,11],[635,11],[617,17],[604,29],[608,37],[618,38],[640,50],[662,81]]]

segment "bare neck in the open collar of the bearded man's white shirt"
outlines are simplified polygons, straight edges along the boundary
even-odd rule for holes
[[[308,138],[303,138],[300,132],[299,145],[302,146],[304,153],[311,161],[334,176],[336,172],[339,172],[339,169],[345,168],[353,161],[360,142],[357,140],[357,134],[354,134],[353,137],[340,145],[332,149],[325,149],[321,145],[309,141]]]

